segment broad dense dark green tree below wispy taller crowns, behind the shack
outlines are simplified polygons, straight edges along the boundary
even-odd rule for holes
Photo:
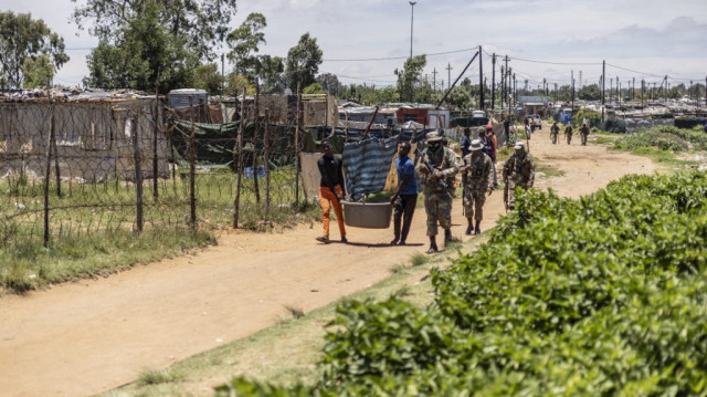
[[[146,0],[144,12],[118,32],[115,42],[103,39],[87,56],[89,76],[84,84],[102,88],[159,91],[189,86],[199,56],[160,22],[161,7]]]

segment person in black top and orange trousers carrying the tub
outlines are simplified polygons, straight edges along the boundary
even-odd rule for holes
[[[319,182],[319,206],[321,207],[323,234],[317,237],[317,241],[329,243],[329,212],[334,207],[336,220],[339,224],[341,242],[347,243],[346,227],[344,226],[344,211],[341,211],[341,199],[344,198],[344,170],[341,160],[334,157],[331,143],[324,140],[324,156],[317,160],[321,180]]]

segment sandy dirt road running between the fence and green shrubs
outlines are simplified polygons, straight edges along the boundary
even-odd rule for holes
[[[532,155],[564,171],[536,187],[579,197],[626,174],[653,173],[645,158],[603,147],[552,146],[548,129]],[[487,200],[483,229],[503,213],[503,194]],[[454,236],[465,223],[457,202]],[[321,245],[320,226],[284,233],[233,232],[218,247],[101,280],[0,299],[0,396],[85,396],[135,379],[196,353],[312,311],[389,275],[392,265],[424,252],[424,210],[408,247],[389,247],[392,231],[348,229],[351,243]],[[333,239],[338,238],[336,229]],[[467,237],[464,237],[466,239]]]

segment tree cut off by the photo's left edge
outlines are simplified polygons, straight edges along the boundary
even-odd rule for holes
[[[30,13],[0,12],[2,87],[22,87],[24,71],[30,71],[32,79],[40,74],[49,77],[42,82],[48,83],[66,62],[64,39],[52,32],[43,20],[33,20]],[[35,83],[33,80],[32,84]]]

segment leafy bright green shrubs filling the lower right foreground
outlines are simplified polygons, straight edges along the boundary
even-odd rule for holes
[[[705,395],[707,175],[518,197],[490,241],[434,270],[433,303],[347,302],[323,378],[239,395]]]

